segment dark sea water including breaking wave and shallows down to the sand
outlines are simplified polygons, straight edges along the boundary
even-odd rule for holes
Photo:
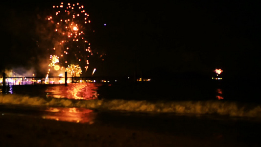
[[[20,85],[0,95],[0,117],[95,123],[260,147],[261,105],[252,88],[237,91],[238,86],[242,83]]]

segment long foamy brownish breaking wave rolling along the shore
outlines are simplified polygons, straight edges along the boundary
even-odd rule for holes
[[[81,107],[144,113],[218,114],[233,117],[261,118],[261,105],[233,101],[147,101],[123,99],[40,98],[22,95],[0,95],[0,104],[51,107]]]

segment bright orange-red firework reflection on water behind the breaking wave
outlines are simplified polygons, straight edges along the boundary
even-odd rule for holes
[[[54,85],[47,87],[47,97],[69,98],[69,99],[96,99],[98,98],[96,83],[74,83],[64,85]]]

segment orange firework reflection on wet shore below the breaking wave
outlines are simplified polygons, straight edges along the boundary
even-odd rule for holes
[[[49,107],[45,111],[43,119],[73,123],[93,124],[96,116],[93,110],[85,108]]]

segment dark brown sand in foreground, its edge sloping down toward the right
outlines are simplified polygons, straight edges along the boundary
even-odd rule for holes
[[[250,144],[258,147],[256,143],[226,140],[218,134],[204,138],[175,136],[124,125],[0,116],[0,147],[248,147]]]

